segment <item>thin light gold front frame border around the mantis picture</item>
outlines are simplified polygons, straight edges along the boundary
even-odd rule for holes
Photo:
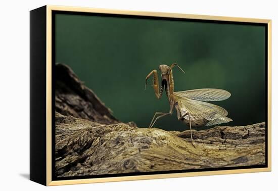
[[[86,178],[86,179],[72,179],[72,180],[55,180],[52,181],[52,11],[71,11],[71,12],[87,12],[87,13],[109,13],[122,15],[137,15],[137,16],[154,16],[154,17],[169,17],[169,18],[187,18],[187,19],[202,19],[202,20],[216,20],[216,21],[235,21],[235,22],[252,22],[267,24],[268,32],[268,119],[267,119],[267,140],[268,140],[268,167],[267,168],[253,168],[253,169],[236,169],[236,170],[217,170],[217,171],[203,171],[203,172],[184,172],[171,174],[154,174],[154,175],[136,175],[136,176],[119,176],[108,178]],[[96,183],[96,182],[110,182],[110,181],[125,181],[125,180],[143,180],[143,179],[157,179],[157,178],[175,178],[187,176],[201,176],[201,175],[219,175],[219,174],[236,174],[249,172],[266,172],[271,171],[271,20],[268,19],[252,19],[252,18],[238,18],[238,17],[220,17],[220,16],[205,16],[205,15],[189,15],[179,13],[161,13],[161,12],[142,12],[142,11],[124,11],[111,9],[95,9],[95,8],[81,8],[81,7],[64,7],[64,6],[47,6],[47,185],[64,185],[64,184],[80,184],[80,183]]]

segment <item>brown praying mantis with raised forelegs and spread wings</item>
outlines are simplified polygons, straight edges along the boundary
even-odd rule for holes
[[[172,69],[175,66],[184,73],[176,63],[173,63],[171,66],[165,64],[159,65],[161,85],[159,85],[157,70],[151,71],[146,77],[145,89],[148,78],[153,75],[152,85],[156,98],[160,99],[165,89],[170,104],[169,112],[156,112],[154,114],[149,128],[152,128],[158,119],[172,115],[174,108],[177,112],[177,119],[190,126],[191,141],[192,127],[211,126],[233,121],[226,117],[228,112],[224,108],[207,103],[209,101],[222,101],[228,99],[231,94],[226,90],[203,88],[174,92]]]

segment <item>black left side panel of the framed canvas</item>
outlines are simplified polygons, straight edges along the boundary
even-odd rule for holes
[[[30,11],[30,180],[47,185],[47,6]]]

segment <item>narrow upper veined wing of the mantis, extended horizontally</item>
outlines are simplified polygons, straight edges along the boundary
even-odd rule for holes
[[[182,98],[189,98],[192,100],[199,100],[205,102],[222,101],[230,97],[230,93],[228,91],[224,89],[213,89],[213,88],[177,91],[174,92],[174,94]]]

